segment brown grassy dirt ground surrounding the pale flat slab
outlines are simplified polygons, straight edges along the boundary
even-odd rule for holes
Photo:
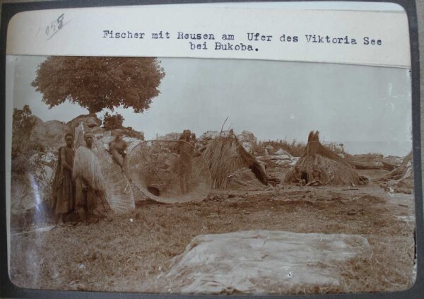
[[[361,173],[378,177],[384,170]],[[365,187],[284,187],[215,191],[200,202],[138,201],[136,209],[90,225],[11,236],[11,279],[23,288],[168,293],[156,278],[200,234],[238,230],[345,233],[367,238],[373,253],[340,264],[338,288],[301,286],[269,293],[350,293],[410,288],[413,194]]]

